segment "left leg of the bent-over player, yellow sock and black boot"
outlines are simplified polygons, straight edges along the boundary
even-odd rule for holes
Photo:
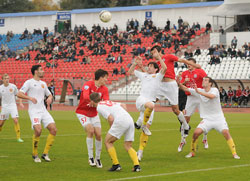
[[[106,149],[109,153],[109,156],[112,160],[112,167],[109,169],[109,171],[119,171],[121,170],[121,166],[119,164],[118,158],[117,158],[117,154],[116,154],[116,150],[114,147],[114,142],[117,140],[116,137],[112,136],[110,133],[107,133],[106,137],[105,137],[105,146]]]

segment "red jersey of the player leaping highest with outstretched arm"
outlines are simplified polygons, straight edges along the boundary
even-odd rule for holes
[[[161,58],[167,66],[167,71],[164,77],[175,80],[174,62],[177,62],[179,58],[171,54],[163,55]],[[157,64],[159,65],[159,67],[161,67],[161,63],[159,61],[157,62]]]

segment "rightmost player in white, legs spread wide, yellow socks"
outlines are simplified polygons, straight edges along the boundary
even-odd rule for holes
[[[234,141],[229,133],[229,128],[222,112],[220,104],[220,94],[217,88],[213,88],[213,80],[210,77],[204,77],[202,87],[194,89],[187,88],[180,84],[180,87],[184,91],[189,91],[193,96],[196,96],[200,100],[200,117],[202,121],[194,130],[193,139],[191,143],[191,152],[186,158],[194,157],[196,152],[196,146],[198,137],[202,133],[208,133],[211,129],[215,129],[227,140],[227,144],[232,152],[233,158],[240,159],[236,153]]]

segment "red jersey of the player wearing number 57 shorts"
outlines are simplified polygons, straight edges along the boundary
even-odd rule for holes
[[[87,117],[95,117],[97,111],[95,107],[89,107],[90,99],[89,96],[93,92],[99,92],[101,94],[102,100],[109,100],[109,92],[106,86],[96,87],[95,81],[88,81],[82,87],[82,93],[80,97],[80,102],[76,108],[77,114],[83,114]]]

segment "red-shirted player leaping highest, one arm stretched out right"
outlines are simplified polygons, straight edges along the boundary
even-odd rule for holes
[[[159,45],[155,45],[151,48],[151,54],[154,56],[154,54],[159,53],[160,56],[162,57],[162,59],[164,60],[164,63],[167,66],[167,71],[164,75],[164,78],[161,82],[160,88],[158,90],[158,98],[165,98],[168,99],[168,101],[171,104],[172,110],[173,112],[177,115],[178,119],[180,120],[180,122],[183,124],[184,126],[184,130],[183,130],[183,135],[187,136],[188,135],[188,131],[189,131],[189,125],[186,122],[186,119],[183,115],[183,113],[179,110],[179,106],[178,106],[178,85],[176,83],[175,80],[175,72],[174,72],[174,62],[182,62],[185,63],[187,65],[192,65],[195,68],[201,68],[200,65],[195,64],[192,61],[188,61],[185,59],[180,59],[174,55],[171,54],[166,54],[163,55],[161,53],[161,47]],[[160,65],[159,65],[160,66]]]

